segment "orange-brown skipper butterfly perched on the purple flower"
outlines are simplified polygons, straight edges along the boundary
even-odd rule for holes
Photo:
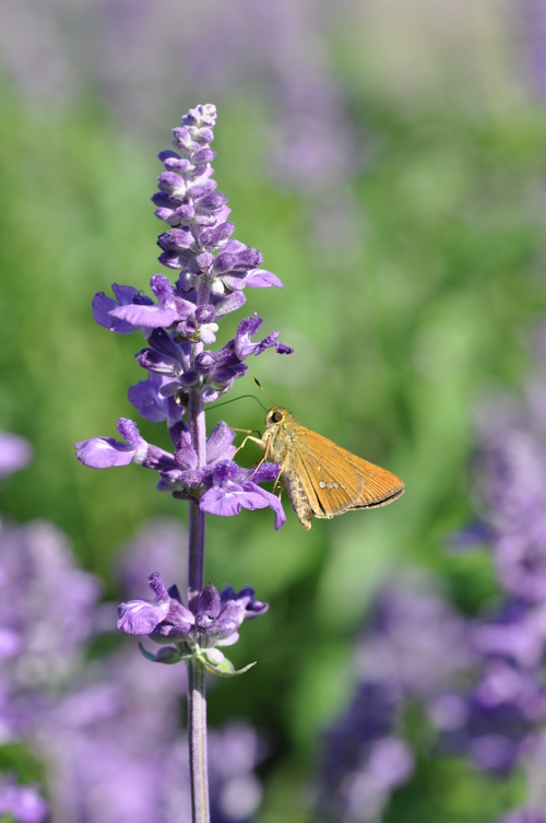
[[[330,520],[345,512],[387,506],[404,493],[395,474],[312,432],[281,405],[266,412],[262,437],[249,439],[264,449],[263,460],[281,466],[281,492],[286,487],[306,529],[313,517]]]

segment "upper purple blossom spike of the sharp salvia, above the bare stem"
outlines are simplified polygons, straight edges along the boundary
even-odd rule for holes
[[[262,255],[232,237],[229,208],[216,190],[211,149],[216,109],[198,106],[174,129],[175,151],[161,152],[165,171],[152,198],[156,216],[168,230],[157,240],[159,261],[179,271],[175,282],[154,274],[152,296],[131,285],[112,285],[114,297],[95,295],[93,315],[110,331],[140,332],[145,345],[135,355],[147,376],[129,389],[129,400],[139,413],[153,422],[165,422],[174,454],[141,436],[136,424],[118,421],[123,442],[94,437],[75,444],[76,457],[93,469],[138,463],[159,474],[157,489],[175,497],[199,502],[203,513],[224,517],[242,508],[270,507],[275,528],[285,521],[280,499],[260,484],[276,480],[278,467],[248,471],[233,462],[234,432],[221,422],[207,438],[205,465],[198,466],[195,444],[190,436],[190,396],[209,403],[227,392],[248,372],[246,361],[268,349],[289,354],[292,349],[272,331],[254,339],[262,319],[251,314],[241,320],[235,337],[218,348],[218,322],[241,308],[246,286],[282,287],[281,281],[261,268]]]

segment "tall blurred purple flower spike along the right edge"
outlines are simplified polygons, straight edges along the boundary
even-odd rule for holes
[[[546,721],[545,343],[539,329],[537,366],[523,402],[497,401],[480,415],[477,526],[487,531],[502,595],[470,624],[473,685],[440,694],[430,705],[440,748],[498,773],[522,765]]]

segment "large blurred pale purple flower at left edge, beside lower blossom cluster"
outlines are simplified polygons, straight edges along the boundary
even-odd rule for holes
[[[47,522],[0,530],[0,738],[16,738],[81,665],[100,585]]]

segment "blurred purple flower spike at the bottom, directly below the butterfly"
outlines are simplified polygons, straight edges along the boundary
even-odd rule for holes
[[[428,701],[471,660],[466,623],[430,578],[406,575],[379,593],[356,650],[359,684],[322,741],[318,821],[380,816],[413,773],[406,702]]]

